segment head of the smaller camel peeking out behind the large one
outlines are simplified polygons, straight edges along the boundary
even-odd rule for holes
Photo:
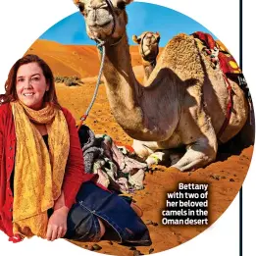
[[[139,53],[146,61],[152,61],[157,58],[159,53],[159,32],[143,32],[139,36],[133,35],[132,40],[134,43],[139,44]]]

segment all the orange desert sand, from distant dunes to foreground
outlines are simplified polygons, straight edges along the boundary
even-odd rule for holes
[[[143,70],[137,46],[130,47],[132,66],[139,80],[143,79]],[[97,78],[99,60],[94,46],[66,46],[44,40],[36,41],[28,50],[35,53],[49,63],[55,75],[82,77],[84,84],[68,87],[57,84],[57,94],[61,105],[67,107],[75,116],[77,122],[85,112],[94,91]],[[95,104],[86,120],[95,133],[107,133],[115,140],[131,144],[132,139],[115,122],[112,116],[105,86],[102,83]],[[230,152],[233,152],[232,154]],[[149,247],[136,247],[143,254],[168,250],[193,238],[206,226],[168,226],[161,224],[161,209],[165,205],[166,192],[177,188],[179,181],[209,183],[209,222],[213,224],[229,207],[246,177],[253,146],[243,150],[224,150],[219,153],[215,163],[196,172],[180,173],[166,166],[155,166],[146,174],[145,188],[137,191],[132,198],[143,209],[143,221],[148,225],[153,244]],[[77,245],[91,249],[94,243],[76,242]],[[119,245],[111,241],[97,243],[102,247],[99,252],[132,256],[134,251],[130,247]],[[133,248],[134,249],[134,248]]]

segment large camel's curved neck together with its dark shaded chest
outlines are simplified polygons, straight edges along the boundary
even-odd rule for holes
[[[132,71],[125,35],[118,44],[106,46],[103,74],[111,110],[128,135],[164,141],[173,134],[184,86],[177,85],[181,81],[171,69],[154,68],[147,85],[140,85]]]

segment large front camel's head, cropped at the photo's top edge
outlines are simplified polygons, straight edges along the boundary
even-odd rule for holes
[[[126,6],[132,0],[74,0],[86,23],[88,36],[98,41],[115,41],[126,32]]]

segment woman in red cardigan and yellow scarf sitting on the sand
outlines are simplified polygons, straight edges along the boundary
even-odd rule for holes
[[[150,245],[127,201],[84,173],[75,119],[60,106],[49,66],[26,55],[12,67],[0,106],[0,230]]]

